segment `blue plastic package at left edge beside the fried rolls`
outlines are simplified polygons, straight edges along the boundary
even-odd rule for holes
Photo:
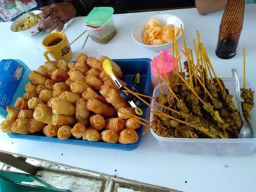
[[[14,107],[17,97],[25,93],[25,85],[30,69],[20,60],[3,59],[0,61],[0,114],[7,116],[6,107]]]

